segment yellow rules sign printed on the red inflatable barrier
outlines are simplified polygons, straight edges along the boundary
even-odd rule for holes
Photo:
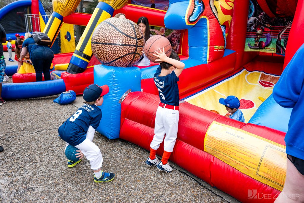
[[[282,191],[286,177],[285,146],[213,121],[204,151],[240,172]]]

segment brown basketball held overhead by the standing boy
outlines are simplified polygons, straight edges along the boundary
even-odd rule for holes
[[[153,54],[155,54],[154,51],[159,52],[158,48],[163,51],[163,47],[165,49],[165,54],[169,57],[172,51],[172,47],[169,40],[164,36],[154,35],[146,41],[144,52],[150,61],[154,63],[160,63],[159,61],[155,61],[159,58],[154,56]]]

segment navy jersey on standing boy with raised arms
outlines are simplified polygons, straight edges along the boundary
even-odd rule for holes
[[[154,74],[154,83],[158,89],[159,98],[161,103],[169,104],[172,106],[179,105],[179,93],[177,81],[179,81],[175,72],[166,76],[158,76],[161,73],[161,66],[158,66]]]

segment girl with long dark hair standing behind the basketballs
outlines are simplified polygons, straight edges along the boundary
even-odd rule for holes
[[[141,33],[143,33],[144,42],[146,42],[151,36],[153,36],[150,33],[149,21],[146,17],[144,17],[144,16],[140,17],[137,21],[137,25],[138,25]],[[136,66],[138,68],[147,68],[147,67],[150,67],[150,65],[151,65],[151,61],[147,58],[147,56],[145,54],[143,54],[143,56],[140,58],[140,60],[134,66]]]

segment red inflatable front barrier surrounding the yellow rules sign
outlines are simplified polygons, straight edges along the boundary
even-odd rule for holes
[[[159,97],[156,95],[143,92],[130,93],[121,106],[119,137],[149,150],[154,136],[153,128],[158,103]],[[259,202],[274,201],[280,191],[241,173],[205,152],[204,138],[213,121],[253,133],[281,145],[285,145],[285,133],[227,119],[186,102],[180,103],[179,114],[177,141],[170,157],[171,161],[242,202],[257,201],[256,198],[248,198],[249,190],[268,195],[267,198],[259,199]],[[161,146],[157,154],[161,156],[162,150]],[[192,164],[188,164],[189,160]]]

